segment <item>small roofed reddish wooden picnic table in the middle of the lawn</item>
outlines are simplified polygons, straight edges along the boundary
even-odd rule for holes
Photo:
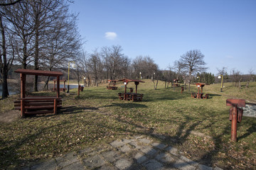
[[[121,100],[126,100],[126,101],[142,101],[143,98],[143,94],[138,94],[138,88],[137,86],[139,85],[139,83],[144,83],[144,81],[142,80],[138,80],[138,79],[119,79],[119,81],[123,81],[124,82],[124,93],[119,93],[119,99]],[[135,89],[135,93],[133,92],[133,89],[130,88],[130,92],[127,92],[127,84],[129,82],[134,82],[136,89]]]

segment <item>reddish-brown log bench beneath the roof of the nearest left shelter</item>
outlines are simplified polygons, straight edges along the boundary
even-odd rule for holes
[[[56,114],[61,107],[62,99],[57,97],[31,96],[18,98],[18,100],[14,101],[14,108],[23,112],[23,114]]]

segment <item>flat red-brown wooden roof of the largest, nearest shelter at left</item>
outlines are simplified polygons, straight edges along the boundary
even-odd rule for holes
[[[50,71],[43,71],[43,70],[35,70],[35,69],[16,69],[14,71],[16,73],[21,74],[31,74],[31,75],[38,75],[38,76],[50,76],[50,77],[57,77],[62,76],[62,72],[50,72]]]

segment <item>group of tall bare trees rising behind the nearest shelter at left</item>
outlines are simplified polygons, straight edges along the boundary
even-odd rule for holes
[[[82,38],[77,16],[65,0],[1,1],[2,98],[8,96],[7,77],[12,64],[33,69],[56,70],[80,54]],[[38,77],[34,91],[38,91]]]

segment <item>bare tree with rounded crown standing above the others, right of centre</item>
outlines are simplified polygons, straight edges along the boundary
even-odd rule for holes
[[[200,50],[190,50],[181,56],[181,63],[186,72],[188,72],[188,91],[190,91],[190,84],[192,75],[196,72],[203,72],[207,69],[204,67],[206,62],[203,61],[204,55]]]

